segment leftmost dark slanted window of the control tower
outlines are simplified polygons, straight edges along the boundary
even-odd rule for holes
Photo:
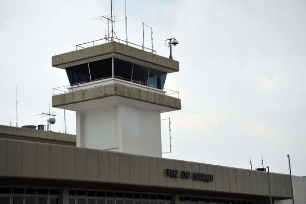
[[[68,75],[70,85],[90,81],[87,63],[72,66],[72,67],[67,67],[66,72]]]

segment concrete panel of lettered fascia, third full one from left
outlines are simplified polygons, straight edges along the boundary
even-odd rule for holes
[[[50,175],[50,145],[36,143],[36,177],[48,178]]]

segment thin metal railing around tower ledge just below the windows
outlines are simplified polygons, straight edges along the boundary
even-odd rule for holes
[[[91,80],[91,81],[87,81],[87,82],[82,82],[82,83],[78,83],[78,84],[72,84],[72,85],[66,85],[66,86],[53,88],[52,93],[53,93],[53,95],[59,95],[59,94],[68,93],[68,92],[81,91],[81,90],[89,89],[89,88],[93,88],[93,87],[105,86],[107,84],[100,84],[101,83],[100,81],[101,80],[107,80],[107,79],[114,81],[115,84],[131,83],[131,85],[134,86],[134,88],[138,88],[138,89],[142,88],[143,90],[148,90],[150,92],[163,91],[163,92],[165,92],[165,95],[175,94],[172,97],[177,96],[176,98],[180,98],[180,93],[177,92],[177,91],[173,91],[173,90],[170,90],[170,89],[154,86],[154,85],[151,85],[151,84],[138,82],[138,81],[131,80],[131,79],[126,79],[126,78],[123,78],[123,77],[118,77],[118,76],[115,76],[115,75],[110,76],[110,77],[101,78],[101,79]],[[81,87],[85,86],[86,83],[90,83],[90,82],[94,82],[92,84],[88,84],[89,86],[91,85],[90,87],[80,88],[80,86]],[[73,90],[73,87],[74,87],[74,90]],[[71,91],[67,91],[68,88],[70,88]],[[60,93],[55,93],[55,92],[60,92]]]

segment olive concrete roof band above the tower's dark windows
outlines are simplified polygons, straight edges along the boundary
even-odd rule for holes
[[[93,57],[99,57],[114,53],[134,58],[146,63],[165,67],[172,70],[172,72],[180,70],[178,61],[165,58],[159,55],[155,55],[119,42],[108,42],[105,44],[100,44],[80,50],[75,50],[69,53],[53,56],[52,66],[58,68],[64,68],[65,66],[63,65],[68,63],[73,63],[81,60],[90,59]]]

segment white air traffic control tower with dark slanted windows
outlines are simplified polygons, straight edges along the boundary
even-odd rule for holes
[[[77,112],[77,146],[162,157],[160,114],[181,109],[164,90],[179,62],[118,42],[52,57],[70,86],[52,106]]]

